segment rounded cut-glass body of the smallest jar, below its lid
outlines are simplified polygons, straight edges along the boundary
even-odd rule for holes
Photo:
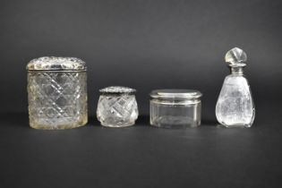
[[[98,99],[98,121],[108,127],[125,127],[135,124],[138,107],[133,94],[102,94]]]

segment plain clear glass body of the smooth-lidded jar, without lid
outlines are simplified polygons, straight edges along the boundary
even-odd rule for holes
[[[196,127],[201,124],[201,100],[150,99],[150,124],[163,128]]]

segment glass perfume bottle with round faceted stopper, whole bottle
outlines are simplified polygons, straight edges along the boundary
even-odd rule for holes
[[[251,127],[255,110],[250,85],[243,73],[247,56],[235,47],[226,53],[225,60],[231,74],[226,76],[218,97],[218,122],[226,127]]]

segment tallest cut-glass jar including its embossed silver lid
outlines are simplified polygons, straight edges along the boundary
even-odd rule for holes
[[[87,124],[86,64],[45,56],[27,65],[30,126],[70,129]]]

